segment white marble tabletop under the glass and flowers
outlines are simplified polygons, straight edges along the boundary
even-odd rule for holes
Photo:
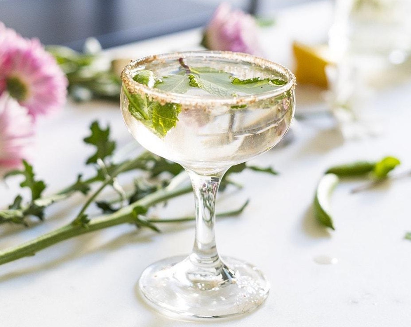
[[[288,48],[273,52],[278,39],[275,35],[279,30],[286,31],[284,38],[278,39],[284,45],[297,36],[307,40],[321,37],[318,31],[326,26],[323,13],[327,12],[329,18],[328,2],[285,11],[271,32],[263,32],[269,57],[290,63]],[[300,19],[290,21],[292,17]],[[307,21],[312,33],[305,25]],[[199,31],[195,30],[112,53],[139,57],[192,49],[198,39]],[[319,93],[307,99],[299,101],[297,93],[298,111],[324,107]],[[240,217],[218,221],[219,252],[261,267],[272,288],[266,303],[250,315],[195,326],[411,325],[411,242],[404,240],[405,232],[411,231],[411,177],[355,195],[349,191],[361,182],[339,185],[332,199],[334,232],[319,226],[312,216],[314,189],[331,165],[390,154],[402,160],[403,170],[411,168],[411,79],[381,90],[373,100],[383,125],[380,137],[343,142],[327,116],[305,119],[299,122],[292,144],[254,160],[258,165],[273,165],[279,176],[241,174],[236,180],[245,188],[219,198],[218,209],[251,199]],[[95,119],[111,124],[120,145],[132,140],[115,104],[69,103],[53,117],[39,120],[33,163],[38,176],[48,181],[50,191],[74,181],[77,172],[84,171],[82,162],[91,149],[81,139]],[[0,186],[1,205],[11,201],[16,186],[17,181],[10,181],[9,188]],[[0,248],[69,222],[79,201],[80,197],[51,208],[46,222],[23,232],[2,226]],[[171,204],[171,211],[176,208],[192,213],[192,197]],[[191,224],[169,227],[162,234],[137,232],[125,225],[68,240],[35,257],[5,264],[0,267],[0,326],[192,326],[148,308],[137,295],[136,282],[151,262],[187,253],[193,239]],[[323,257],[338,262],[319,264]]]

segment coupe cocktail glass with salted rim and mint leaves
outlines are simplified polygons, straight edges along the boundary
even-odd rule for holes
[[[274,84],[227,90],[219,87],[226,74]],[[171,87],[170,78],[175,79]],[[269,283],[254,265],[217,253],[215,199],[229,167],[268,151],[288,130],[295,77],[281,65],[248,54],[191,51],[133,61],[123,70],[122,81],[120,106],[129,132],[144,148],[184,167],[196,204],[192,253],[146,268],[139,280],[142,294],[160,311],[180,318],[253,310],[266,299]],[[187,85],[180,88],[179,83],[188,81],[188,90]]]

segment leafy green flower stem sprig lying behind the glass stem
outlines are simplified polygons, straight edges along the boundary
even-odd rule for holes
[[[67,188],[53,195],[44,195],[46,183],[37,180],[33,167],[28,162],[24,162],[24,169],[8,174],[8,177],[24,176],[24,180],[20,185],[22,188],[30,189],[31,197],[27,202],[23,202],[23,197],[18,195],[8,209],[0,211],[0,223],[28,226],[28,219],[31,216],[43,219],[46,207],[55,202],[67,199],[76,192],[81,192],[83,195],[88,195],[88,197],[79,212],[67,225],[39,236],[32,241],[0,251],[0,264],[34,255],[39,250],[65,239],[123,223],[131,223],[136,225],[137,228],[149,228],[159,232],[158,224],[194,220],[194,217],[157,219],[148,216],[148,212],[156,204],[166,203],[170,199],[192,192],[191,185],[181,183],[183,168],[180,165],[148,151],[133,159],[118,163],[113,162],[115,142],[110,139],[110,128],[101,128],[99,123],[93,122],[90,126],[90,132],[91,134],[84,141],[86,144],[94,146],[95,152],[86,160],[86,164],[95,167],[95,175],[89,179],[83,179],[82,175],[79,175],[76,182]],[[247,168],[268,174],[276,174],[271,167],[247,166],[243,163],[229,169],[222,179],[221,190],[224,190],[229,184],[237,186],[237,183],[231,181],[231,174],[242,172]],[[132,170],[141,171],[143,175],[136,178],[134,189],[126,194],[118,185],[116,179],[118,175]],[[92,184],[95,183],[99,183],[99,185],[92,192],[92,186],[94,186]],[[111,202],[99,200],[100,193],[106,187],[113,188],[119,195],[118,199]],[[100,216],[92,217],[88,213],[88,209],[93,203],[102,210]],[[247,204],[248,201],[239,209],[220,213],[217,216],[236,216],[244,210]]]

